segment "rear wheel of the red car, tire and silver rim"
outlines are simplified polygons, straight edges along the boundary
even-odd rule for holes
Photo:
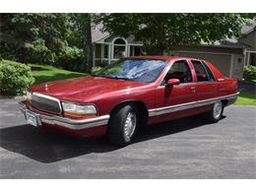
[[[214,103],[212,110],[206,113],[206,118],[208,121],[212,123],[218,122],[224,113],[224,103],[221,100],[218,100]]]

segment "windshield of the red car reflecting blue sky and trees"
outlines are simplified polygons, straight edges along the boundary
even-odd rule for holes
[[[152,83],[158,79],[166,64],[166,60],[122,59],[107,65],[97,72],[96,76]]]

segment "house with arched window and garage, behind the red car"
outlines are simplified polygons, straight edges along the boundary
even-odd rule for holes
[[[206,59],[218,67],[226,77],[242,79],[244,65],[256,65],[256,23],[242,28],[239,38],[227,38],[215,43],[202,42],[198,46],[174,46],[166,55]],[[102,26],[92,29],[94,65],[110,64],[122,57],[142,55],[143,42],[134,36],[124,38],[101,32]]]

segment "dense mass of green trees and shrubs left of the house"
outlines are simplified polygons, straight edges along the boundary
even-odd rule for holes
[[[69,70],[85,69],[89,14],[1,14],[1,57]],[[89,21],[91,23],[91,21]],[[89,29],[91,32],[91,29]],[[92,53],[92,50],[90,50]]]

